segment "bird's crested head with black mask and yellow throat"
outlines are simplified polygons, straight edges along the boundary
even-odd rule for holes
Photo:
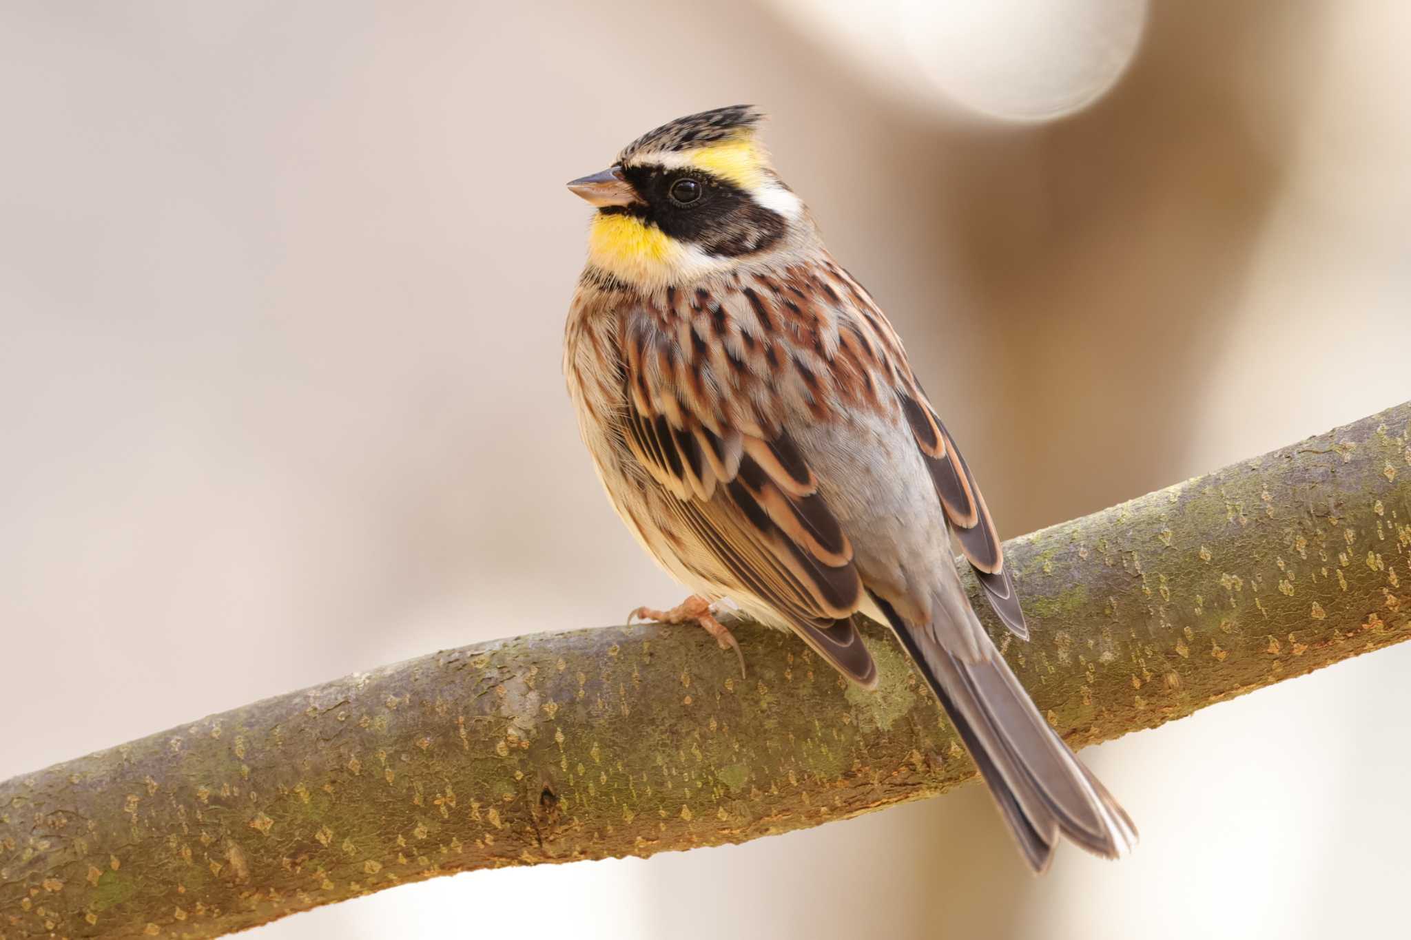
[[[682,117],[569,183],[597,206],[588,262],[641,289],[683,285],[794,244],[811,230],[737,104]]]

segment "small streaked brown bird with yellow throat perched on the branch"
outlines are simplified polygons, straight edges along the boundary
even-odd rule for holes
[[[965,458],[902,341],[832,259],[758,140],[722,107],[628,144],[569,183],[597,207],[564,335],[583,440],[614,509],[693,595],[793,630],[864,688],[852,617],[896,631],[1036,871],[1058,836],[1116,858],[1136,829],[1034,707],[975,616],[948,533],[1010,633],[1029,638]],[[738,645],[735,645],[738,654]]]

